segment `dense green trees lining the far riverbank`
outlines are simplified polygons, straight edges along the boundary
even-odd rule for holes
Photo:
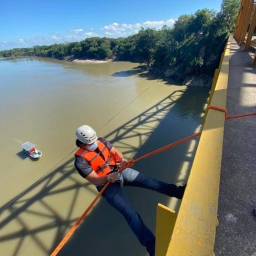
[[[152,72],[170,71],[180,79],[191,73],[212,74],[236,22],[239,0],[224,0],[221,11],[203,9],[181,15],[173,27],[141,28],[127,38],[87,38],[81,42],[15,48],[0,56],[40,56],[67,59],[115,59],[146,63]]]

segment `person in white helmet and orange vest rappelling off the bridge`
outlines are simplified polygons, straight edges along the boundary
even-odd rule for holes
[[[109,141],[98,138],[96,132],[88,125],[80,126],[76,130],[76,137],[76,146],[79,147],[75,153],[76,170],[82,177],[96,185],[98,192],[110,181],[102,196],[125,217],[139,242],[146,246],[150,256],[154,256],[155,236],[127,199],[122,186],[147,188],[182,199],[185,185],[177,186],[152,179],[132,168],[126,168],[118,173],[118,168],[125,166],[127,160]]]

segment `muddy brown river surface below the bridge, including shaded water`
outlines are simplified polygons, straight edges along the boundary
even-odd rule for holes
[[[75,130],[90,125],[127,159],[201,129],[208,88],[187,88],[150,77],[138,63],[70,63],[0,59],[0,251],[49,255],[97,195],[73,167]],[[32,160],[20,144],[43,152]],[[184,184],[197,140],[135,164],[144,174]],[[124,188],[155,232],[156,204],[179,209],[180,200]],[[146,256],[122,216],[103,199],[59,255]]]

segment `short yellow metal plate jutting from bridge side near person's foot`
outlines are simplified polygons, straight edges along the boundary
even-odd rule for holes
[[[156,256],[166,255],[177,214],[174,210],[158,204],[156,212]]]

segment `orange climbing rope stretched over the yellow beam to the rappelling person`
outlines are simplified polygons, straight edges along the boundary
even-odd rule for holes
[[[209,105],[207,109],[215,109],[221,112],[225,113],[225,119],[232,119],[232,118],[239,118],[239,117],[247,117],[249,115],[256,115],[256,113],[250,113],[250,114],[242,114],[242,115],[230,115],[230,116],[226,116],[228,114],[228,111],[224,108],[221,108],[219,106],[214,106],[214,105]],[[167,146],[164,147],[160,147],[157,150],[151,151],[149,153],[147,153],[146,155],[140,156],[137,159],[131,159],[125,166],[123,166],[122,168],[120,168],[120,170],[118,172],[122,172],[123,170],[125,170],[125,168],[127,167],[131,167],[133,166],[133,164],[141,159],[147,158],[148,156],[154,155],[154,154],[158,154],[159,152],[162,152],[164,150],[167,150],[168,148],[174,147],[178,144],[187,142],[193,138],[199,137],[201,135],[201,133],[196,133],[193,134],[187,138],[184,139],[180,139],[180,141],[176,141],[174,143],[168,144]],[[93,205],[96,203],[96,201],[98,200],[98,198],[102,195],[102,193],[106,190],[106,188],[108,187],[108,185],[110,184],[110,181],[108,181],[104,187],[101,189],[101,191],[98,193],[98,195],[94,198],[94,200],[92,201],[92,203],[90,203],[89,207],[85,210],[85,212],[81,215],[81,217],[76,221],[75,225],[72,226],[72,228],[69,230],[69,232],[66,234],[66,236],[63,238],[63,240],[61,240],[61,242],[59,243],[59,245],[55,248],[55,250],[52,252],[52,254],[50,256],[55,256],[57,255],[57,253],[59,253],[59,251],[61,250],[61,248],[65,245],[65,243],[69,240],[69,237],[72,236],[72,234],[75,232],[75,230],[77,229],[77,227],[79,226],[80,222],[83,220],[83,218],[86,216],[86,214],[89,212],[90,209],[92,209]]]

